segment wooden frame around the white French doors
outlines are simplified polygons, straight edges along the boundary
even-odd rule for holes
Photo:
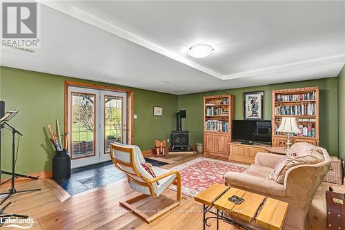
[[[65,81],[65,133],[68,133],[68,87],[69,86],[75,86],[75,87],[81,87],[81,88],[93,88],[93,89],[99,89],[99,90],[108,90],[108,91],[114,91],[114,92],[120,92],[120,93],[126,93],[127,95],[127,129],[126,129],[126,135],[127,135],[127,144],[132,144],[134,140],[134,119],[133,119],[133,113],[134,113],[134,92],[133,90],[129,90],[126,88],[117,88],[115,86],[102,86],[97,84],[90,84],[86,82],[72,82],[72,81]]]

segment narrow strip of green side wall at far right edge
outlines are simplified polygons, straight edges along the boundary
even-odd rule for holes
[[[338,75],[339,158],[345,160],[345,65]]]

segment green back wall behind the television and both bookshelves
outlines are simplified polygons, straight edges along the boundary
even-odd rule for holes
[[[190,144],[203,142],[203,97],[206,95],[235,95],[235,118],[243,119],[242,94],[257,90],[264,90],[264,119],[272,118],[271,91],[284,88],[300,88],[319,86],[319,119],[320,119],[320,146],[328,150],[331,155],[338,153],[337,127],[337,77],[315,79],[304,82],[290,82],[248,88],[217,90],[205,93],[193,93],[179,96],[179,109],[187,110],[187,118],[182,122],[184,130],[190,131]]]

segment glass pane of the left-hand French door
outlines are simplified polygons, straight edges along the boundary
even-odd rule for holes
[[[95,95],[72,93],[72,158],[95,155]]]

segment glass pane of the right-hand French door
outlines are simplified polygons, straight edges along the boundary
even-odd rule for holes
[[[110,153],[110,143],[122,143],[122,97],[104,97],[105,153]]]

